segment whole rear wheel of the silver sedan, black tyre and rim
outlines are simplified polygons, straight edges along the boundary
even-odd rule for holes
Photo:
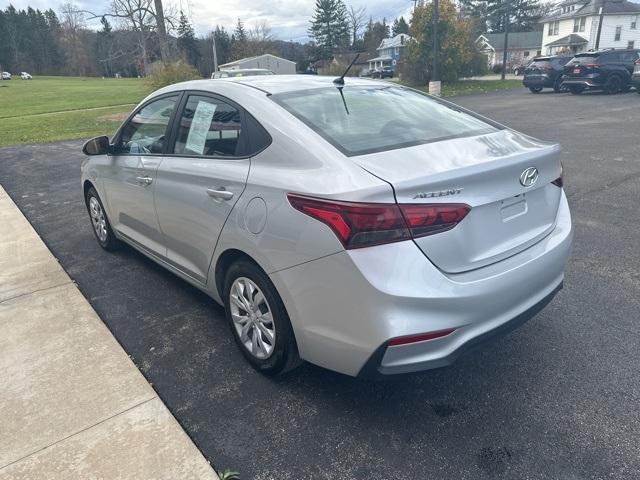
[[[239,260],[227,270],[223,285],[227,323],[249,364],[267,376],[298,367],[302,361],[291,321],[267,274]]]

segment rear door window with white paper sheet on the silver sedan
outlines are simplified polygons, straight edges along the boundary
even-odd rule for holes
[[[240,111],[218,98],[190,95],[178,120],[173,153],[237,157],[244,153]]]

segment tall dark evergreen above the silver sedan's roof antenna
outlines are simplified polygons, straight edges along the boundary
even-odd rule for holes
[[[347,7],[342,0],[316,0],[316,9],[309,26],[322,58],[331,58],[349,45]]]

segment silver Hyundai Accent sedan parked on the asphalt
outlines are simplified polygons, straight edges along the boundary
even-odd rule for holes
[[[83,151],[99,244],[127,243],[224,305],[265,374],[444,366],[563,284],[558,145],[402,86],[179,83]]]

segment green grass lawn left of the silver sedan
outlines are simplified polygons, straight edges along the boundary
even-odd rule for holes
[[[137,78],[0,81],[0,146],[112,134],[147,93]]]

